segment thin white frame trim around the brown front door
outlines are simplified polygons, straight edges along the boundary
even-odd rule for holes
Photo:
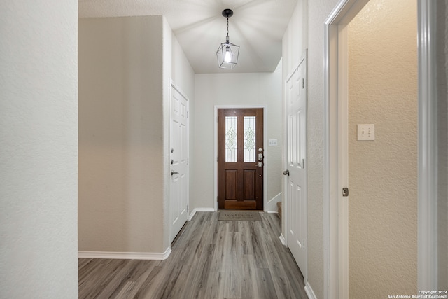
[[[266,152],[266,106],[265,105],[215,105],[214,106],[214,209],[218,211],[218,109],[251,109],[260,108],[263,109],[263,153]],[[263,211],[266,209],[267,204],[267,164],[269,160],[266,155],[263,160]]]

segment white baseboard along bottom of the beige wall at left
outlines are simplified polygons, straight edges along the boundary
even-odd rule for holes
[[[163,253],[151,252],[111,252],[78,251],[78,258],[112,258],[119,260],[166,260],[171,254],[171,247]]]

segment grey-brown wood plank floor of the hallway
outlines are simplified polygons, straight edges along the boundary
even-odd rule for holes
[[[261,216],[218,221],[217,212],[198,212],[167,260],[80,258],[79,298],[307,298],[279,217]]]

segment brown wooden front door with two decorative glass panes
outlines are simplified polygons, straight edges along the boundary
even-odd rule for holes
[[[263,109],[218,109],[218,209],[263,209]]]

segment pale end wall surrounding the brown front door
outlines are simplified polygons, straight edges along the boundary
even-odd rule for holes
[[[214,106],[259,105],[265,109],[265,139],[279,146],[265,148],[267,201],[281,193],[281,64],[274,73],[196,74],[194,143],[195,182],[190,190],[192,209],[214,208]],[[274,202],[272,210],[276,211]],[[265,207],[266,208],[266,207]]]

